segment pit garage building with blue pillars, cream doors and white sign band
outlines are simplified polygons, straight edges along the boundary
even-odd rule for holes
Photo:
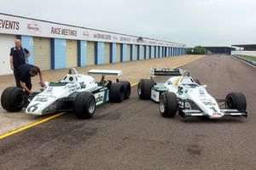
[[[30,51],[28,62],[42,70],[185,54],[181,43],[0,14],[0,75],[12,73],[9,52],[16,38]]]

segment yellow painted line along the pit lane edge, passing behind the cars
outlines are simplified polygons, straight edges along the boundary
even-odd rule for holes
[[[197,60],[197,59],[195,59],[195,60]],[[193,62],[193,61],[195,61],[195,60],[188,61],[188,62],[186,62],[186,63],[183,63],[182,65],[177,65],[177,66],[172,67],[172,68],[177,68],[177,67],[180,67],[180,66],[183,66],[183,65],[187,65],[188,63],[191,63],[191,62]],[[148,77],[148,78],[149,78],[149,77]],[[138,82],[133,83],[133,84],[131,84],[131,87],[136,86],[137,84],[138,84]],[[26,130],[27,128],[35,127],[35,126],[37,126],[38,124],[41,124],[41,123],[43,123],[43,122],[47,122],[47,121],[49,121],[49,120],[51,120],[51,119],[54,119],[54,118],[57,117],[57,116],[61,116],[61,115],[63,115],[64,113],[66,113],[66,112],[61,112],[61,113],[55,114],[55,115],[53,115],[53,116],[49,116],[49,117],[47,117],[47,118],[45,118],[45,119],[42,119],[42,120],[39,120],[39,121],[37,121],[37,122],[32,122],[31,124],[26,125],[26,126],[24,126],[24,127],[17,128],[17,129],[15,129],[15,130],[13,130],[13,131],[10,131],[9,133],[4,133],[4,134],[0,135],[0,139],[7,138],[7,137],[9,137],[10,135],[13,135],[13,134],[15,134],[15,133],[19,133],[20,131]]]

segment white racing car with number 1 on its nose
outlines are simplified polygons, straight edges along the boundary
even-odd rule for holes
[[[207,93],[207,85],[189,76],[189,71],[181,69],[151,69],[150,79],[141,79],[137,86],[140,99],[159,102],[160,114],[174,117],[223,116],[247,117],[247,100],[240,92],[231,92],[225,99],[213,99]],[[171,76],[166,82],[154,82],[154,76]]]

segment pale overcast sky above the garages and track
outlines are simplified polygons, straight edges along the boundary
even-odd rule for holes
[[[256,0],[0,0],[0,13],[188,46],[256,43]]]

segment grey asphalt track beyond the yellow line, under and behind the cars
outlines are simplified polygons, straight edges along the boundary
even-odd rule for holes
[[[215,98],[242,91],[248,118],[166,119],[132,88],[131,99],[103,105],[90,120],[67,113],[0,140],[0,169],[255,169],[256,69],[225,55],[183,69]]]

